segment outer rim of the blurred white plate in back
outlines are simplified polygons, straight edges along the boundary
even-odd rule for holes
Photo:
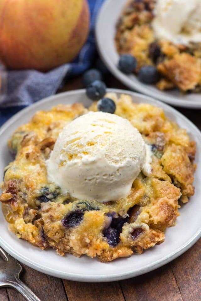
[[[137,92],[141,94],[145,94],[149,97],[158,99],[167,104],[177,106],[177,107],[182,107],[182,108],[188,108],[188,109],[201,109],[201,101],[200,103],[198,103],[197,101],[194,100],[182,100],[177,98],[176,96],[171,97],[169,95],[167,96],[158,95],[158,93],[149,90],[150,85],[146,85],[144,87],[143,84],[140,82],[134,83],[132,78],[130,78],[130,75],[126,75],[122,73],[115,65],[111,64],[110,60],[107,58],[107,52],[105,51],[103,43],[101,42],[101,35],[99,35],[99,30],[101,28],[101,22],[104,16],[104,12],[107,9],[107,6],[111,2],[112,0],[105,0],[97,15],[96,22],[95,22],[95,43],[102,61],[105,63],[106,67],[111,71],[113,76],[119,79],[128,88],[132,90],[136,90]],[[126,3],[127,0],[124,0],[124,2]],[[200,98],[201,98],[201,93],[200,93]]]

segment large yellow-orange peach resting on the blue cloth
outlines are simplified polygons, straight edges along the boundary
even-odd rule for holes
[[[89,32],[87,0],[0,0],[0,60],[46,71],[70,62]]]

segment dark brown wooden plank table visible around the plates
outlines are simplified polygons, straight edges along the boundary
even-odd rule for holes
[[[106,84],[111,88],[126,89],[111,75]],[[78,77],[68,80],[62,91],[80,88],[83,88],[82,79]],[[201,130],[201,110],[177,109]],[[187,221],[186,226],[190,227],[191,221]],[[199,301],[200,252],[201,239],[169,264],[145,275],[119,282],[73,282],[42,274],[25,265],[21,279],[41,301]],[[24,298],[12,288],[1,288],[0,301],[24,301]]]

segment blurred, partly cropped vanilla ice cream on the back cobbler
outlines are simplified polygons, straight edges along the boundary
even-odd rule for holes
[[[154,14],[156,38],[184,45],[201,42],[200,0],[158,0]]]

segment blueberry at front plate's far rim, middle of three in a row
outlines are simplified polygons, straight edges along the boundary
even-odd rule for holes
[[[87,96],[92,100],[98,100],[106,94],[106,85],[100,80],[90,83],[86,88]]]

